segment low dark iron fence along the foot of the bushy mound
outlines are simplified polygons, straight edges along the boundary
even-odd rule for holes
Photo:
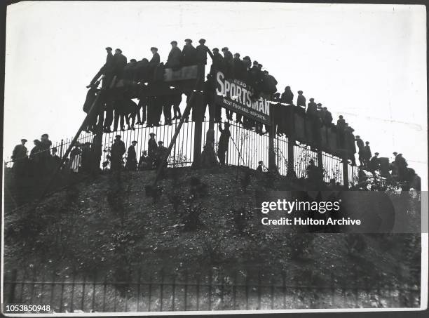
[[[13,270],[4,281],[5,303],[50,305],[55,312],[164,312],[183,310],[279,310],[341,307],[419,307],[418,286],[296,284],[286,273],[206,270],[196,274],[140,269],[127,281],[79,274],[46,280]]]

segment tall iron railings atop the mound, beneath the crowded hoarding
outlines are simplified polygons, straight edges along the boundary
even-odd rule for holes
[[[104,133],[102,140],[102,163],[106,163],[106,167],[109,166],[108,154],[110,147],[114,142],[116,135],[121,135],[121,139],[125,143],[125,147],[129,147],[132,141],[137,141],[135,150],[137,153],[137,159],[142,154],[143,150],[147,150],[147,143],[149,140],[149,133],[156,134],[156,140],[163,141],[164,145],[167,146],[172,139],[172,136],[177,129],[179,121],[175,121],[172,124],[162,124],[155,127],[138,126],[135,130],[128,129],[125,131],[113,131],[111,133]],[[203,121],[203,129],[201,136],[201,151],[205,145],[206,132],[209,127],[209,121]],[[182,129],[177,136],[176,143],[172,148],[170,157],[168,158],[168,166],[190,166],[193,163],[193,140],[195,138],[195,123],[193,121],[185,121]],[[248,166],[250,168],[257,168],[259,161],[264,161],[264,165],[268,164],[268,150],[269,150],[269,137],[268,133],[261,134],[250,129],[247,129],[241,125],[231,123],[230,126],[231,139],[229,148],[226,154],[226,164],[234,166]],[[217,151],[217,141],[219,140],[220,132],[217,126],[214,126],[214,147]],[[53,143],[49,151],[52,151],[53,147],[57,147],[58,154],[62,157],[62,154],[69,147],[73,138],[67,138],[60,142]],[[79,143],[92,142],[93,133],[81,133],[78,141]],[[287,174],[288,166],[288,143],[289,140],[285,136],[276,136],[274,138],[274,152],[275,161],[278,166],[278,171],[281,175]],[[126,155],[125,155],[126,159]],[[309,145],[303,143],[294,144],[294,171],[298,178],[306,178],[306,167],[309,161],[313,159],[316,166],[318,163],[318,153]],[[7,161],[6,167],[12,166],[12,161]],[[343,166],[342,159],[332,154],[322,152],[322,166],[324,171],[324,180],[329,182],[330,179],[334,178],[336,182],[343,185]],[[350,166],[348,164],[348,175],[349,175],[349,186],[353,186],[357,183],[357,167]]]

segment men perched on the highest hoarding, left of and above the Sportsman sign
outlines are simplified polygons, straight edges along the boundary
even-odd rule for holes
[[[262,65],[249,56],[240,58],[240,53],[232,54],[228,47],[222,48],[222,54],[219,53],[219,48],[210,49],[205,46],[205,39],[199,40],[198,46],[193,46],[191,39],[185,39],[185,44],[181,50],[177,46],[177,41],[171,41],[171,51],[168,54],[168,60],[161,62],[158,48],[151,47],[151,59],[143,58],[137,61],[136,59],[128,59],[123,55],[120,48],[116,48],[115,53],[112,53],[112,48],[107,47],[107,58],[100,71],[95,74],[95,77],[90,81],[87,88],[90,88],[87,93],[86,102],[83,105],[83,110],[88,112],[90,106],[100,91],[98,88],[100,81],[102,88],[114,87],[118,81],[123,81],[124,85],[147,83],[159,78],[159,74],[163,74],[165,68],[179,69],[189,65],[207,65],[207,54],[212,59],[210,74],[207,76],[207,81],[204,84],[204,103],[212,105],[214,98],[214,75],[217,70],[224,72],[226,79],[239,79],[250,84],[254,88],[252,98],[257,99],[264,93],[273,95],[277,91],[277,81],[268,74],[267,70],[262,70]],[[162,75],[161,75],[162,78]],[[189,100],[191,91],[184,92],[186,100]],[[146,124],[147,126],[159,126],[161,115],[164,115],[164,123],[172,124],[175,119],[182,118],[180,103],[182,102],[182,94],[158,95],[158,96],[142,96],[138,98],[136,103],[130,98],[118,98],[117,100],[109,100],[103,105],[102,114],[98,117],[98,123],[102,122],[104,132],[125,130],[125,123],[129,129],[134,129],[135,124]],[[203,112],[205,112],[205,107]],[[216,107],[213,105],[213,107]],[[171,112],[174,112],[172,117]],[[222,122],[222,108],[216,107],[214,112],[215,121]],[[226,110],[228,120],[233,120],[233,112]],[[193,118],[196,114],[193,114]],[[137,119],[137,121],[136,121]],[[187,118],[189,119],[189,117]],[[237,114],[236,121],[241,121],[241,116]],[[247,126],[256,127],[256,123],[244,122]],[[95,129],[97,119],[94,119],[88,124],[87,130]]]

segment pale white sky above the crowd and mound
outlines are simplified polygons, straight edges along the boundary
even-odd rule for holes
[[[5,157],[21,138],[74,135],[106,46],[128,60],[157,46],[165,61],[173,39],[204,37],[343,114],[373,153],[402,152],[427,190],[424,6],[29,1],[6,23]]]

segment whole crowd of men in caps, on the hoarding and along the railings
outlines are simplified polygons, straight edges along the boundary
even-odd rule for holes
[[[376,152],[372,156],[369,142],[365,143],[359,135],[353,135],[353,128],[351,128],[342,115],[333,123],[332,113],[327,110],[327,107],[322,107],[322,104],[316,103],[314,98],[310,98],[307,104],[306,97],[303,91],[297,92],[296,105],[294,104],[294,93],[290,86],[285,87],[285,91],[281,94],[277,92],[277,80],[263,70],[261,63],[257,60],[252,62],[249,56],[240,58],[240,53],[231,53],[228,47],[222,48],[222,54],[219,48],[208,48],[205,45],[205,39],[200,39],[199,45],[194,47],[191,39],[185,39],[185,44],[181,50],[177,45],[177,41],[171,41],[171,50],[168,54],[168,59],[161,62],[161,57],[158,53],[158,48],[151,47],[151,58],[142,58],[142,60],[128,59],[123,55],[120,48],[116,48],[113,54],[113,49],[107,47],[107,57],[104,65],[100,68],[99,72],[90,81],[87,88],[86,101],[83,105],[83,110],[88,112],[97,94],[100,92],[98,88],[100,82],[101,89],[114,87],[118,81],[123,81],[124,85],[132,83],[147,83],[154,81],[159,74],[164,72],[165,68],[172,68],[173,70],[180,69],[180,67],[189,65],[207,65],[207,54],[212,59],[210,73],[207,75],[207,81],[204,84],[204,100],[203,100],[203,113],[207,105],[214,107],[214,121],[219,123],[220,138],[218,141],[217,157],[221,164],[225,164],[226,151],[229,148],[229,139],[231,132],[229,131],[229,121],[233,121],[233,112],[226,110],[226,122],[222,128],[222,108],[214,105],[214,78],[215,72],[222,71],[226,79],[238,79],[252,86],[252,99],[258,99],[261,94],[268,96],[275,105],[274,110],[274,131],[277,135],[284,135],[288,133],[290,124],[287,122],[287,106],[295,107],[294,110],[305,114],[306,121],[311,126],[312,135],[308,143],[310,145],[320,145],[320,127],[334,127],[337,131],[337,144],[339,148],[347,148],[348,159],[355,165],[355,153],[358,154],[360,167],[362,169],[375,173],[375,171],[383,171],[382,174],[386,175],[387,171],[392,171],[392,175],[397,180],[407,180],[412,169],[407,168],[407,161],[402,157],[402,154],[395,154],[395,160],[390,166],[386,168],[383,161],[379,159],[379,153]],[[191,91],[184,92],[186,98],[189,99]],[[177,95],[159,95],[159,96],[142,96],[139,98],[138,104],[130,98],[119,98],[107,100],[102,105],[102,110],[90,123],[87,130],[93,131],[95,126],[102,124],[104,132],[111,131],[111,124],[114,124],[114,131],[120,129],[125,130],[124,122],[128,124],[128,128],[134,129],[135,124],[147,124],[147,126],[159,126],[161,121],[161,114],[164,114],[165,124],[172,124],[172,120],[180,119],[182,112],[179,108],[182,102],[182,94]],[[171,110],[174,111],[174,116],[171,115]],[[137,122],[135,119],[137,117]],[[194,117],[194,114],[193,114]],[[289,116],[290,117],[290,116]],[[189,119],[189,118],[188,118]],[[254,129],[257,133],[268,133],[266,126],[263,131],[263,125],[257,121],[253,121],[248,117],[243,117],[241,114],[236,114],[235,121],[242,124],[247,129]],[[47,173],[52,170],[55,163],[60,161],[57,156],[57,149],[53,147],[52,154],[50,147],[52,143],[48,139],[47,134],[43,134],[41,140],[34,140],[34,147],[29,156],[27,156],[27,148],[25,147],[27,140],[22,139],[21,145],[17,145],[13,150],[12,160],[14,162],[15,175],[34,171],[34,175],[40,173]],[[123,156],[126,154],[125,167],[128,170],[147,170],[160,166],[162,159],[167,152],[162,141],[156,143],[155,134],[150,134],[147,151],[142,152],[142,156],[137,161],[137,154],[135,151],[137,141],[133,141],[128,147],[121,140],[121,135],[116,135],[114,143],[111,145],[108,159],[110,161],[111,170],[118,171],[123,168]],[[356,151],[357,146],[357,151]],[[67,167],[72,172],[88,171],[91,165],[90,151],[91,144],[85,143],[83,145],[76,144],[74,149],[71,150],[70,159],[67,161]],[[29,168],[30,167],[30,168]],[[261,169],[261,164],[259,164]],[[319,169],[320,170],[320,169]],[[320,171],[315,166],[314,161],[310,162],[307,167],[308,178],[320,179]],[[411,171],[411,172],[410,172]]]

